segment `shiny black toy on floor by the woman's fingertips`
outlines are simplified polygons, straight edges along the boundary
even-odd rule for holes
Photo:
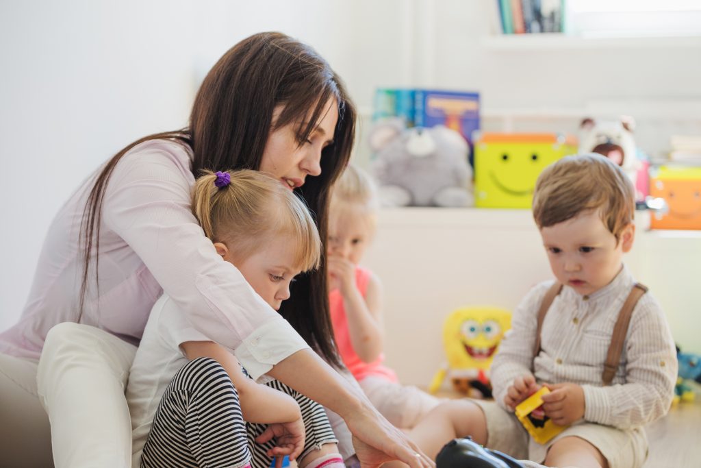
[[[498,450],[490,450],[472,438],[453,439],[436,457],[436,468],[523,468],[523,464]]]

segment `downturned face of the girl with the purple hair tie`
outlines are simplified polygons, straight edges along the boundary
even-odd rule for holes
[[[273,239],[265,248],[243,260],[235,260],[232,250],[220,250],[221,243],[215,243],[215,247],[224,260],[238,268],[270,307],[279,310],[283,300],[290,297],[290,283],[300,273],[299,267],[294,265],[294,249],[289,247],[293,242],[287,237]]]

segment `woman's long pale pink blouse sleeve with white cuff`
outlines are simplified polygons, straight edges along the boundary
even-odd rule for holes
[[[102,229],[120,236],[193,326],[231,349],[257,379],[308,345],[205,237],[190,211],[189,165],[175,142],[132,149],[109,180]]]

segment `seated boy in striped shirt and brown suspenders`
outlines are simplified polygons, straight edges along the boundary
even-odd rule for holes
[[[633,245],[633,215],[632,184],[604,156],[567,156],[545,168],[533,218],[557,281],[540,283],[515,310],[491,368],[495,401],[444,403],[412,432],[426,453],[469,434],[547,466],[643,464],[643,426],[667,413],[677,363],[660,305],[622,264]],[[629,296],[629,323],[613,340]],[[622,350],[606,370],[612,340]],[[543,385],[551,390],[543,396],[545,416],[569,427],[541,445],[512,412]]]

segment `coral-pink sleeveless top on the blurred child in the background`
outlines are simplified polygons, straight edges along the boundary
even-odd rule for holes
[[[367,269],[355,267],[355,284],[362,297],[365,297],[367,292],[367,283],[370,279],[370,272]],[[384,354],[371,363],[363,362],[362,359],[355,354],[353,343],[351,342],[351,334],[348,333],[348,320],[346,319],[346,308],[343,307],[343,296],[338,289],[334,289],[329,293],[329,306],[331,309],[331,323],[334,327],[334,337],[336,338],[336,346],[339,349],[339,354],[343,363],[348,370],[351,371],[355,380],[363,380],[365,377],[372,375],[374,377],[383,377],[390,382],[397,382],[397,375],[390,368],[382,365]]]

